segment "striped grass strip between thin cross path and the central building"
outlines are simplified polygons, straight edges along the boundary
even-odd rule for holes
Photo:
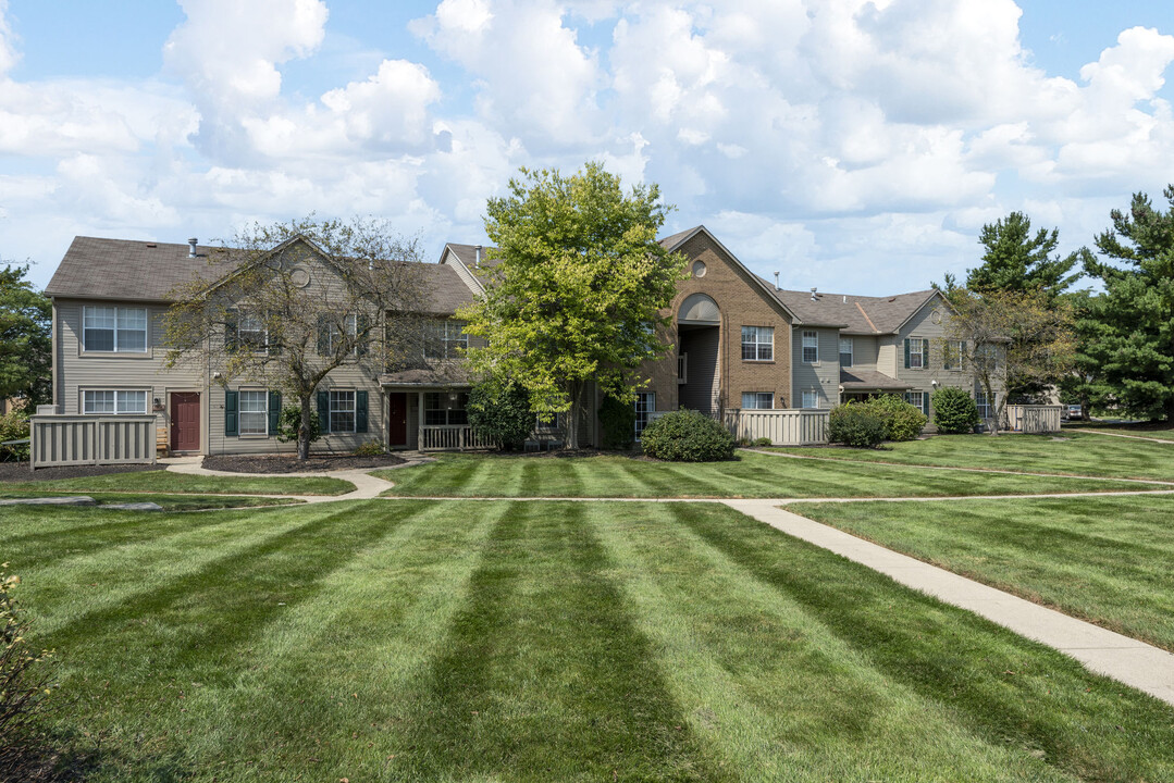
[[[441,454],[375,475],[384,494],[459,498],[883,498],[1161,488],[1119,481],[837,465],[740,452],[729,463],[653,463],[628,457]]]

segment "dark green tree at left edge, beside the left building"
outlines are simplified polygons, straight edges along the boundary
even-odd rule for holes
[[[53,397],[53,304],[27,275],[28,266],[0,270],[0,399],[35,406]]]

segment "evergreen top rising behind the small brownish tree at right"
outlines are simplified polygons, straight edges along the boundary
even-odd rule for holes
[[[1051,301],[1080,279],[1080,271],[1072,270],[1082,252],[1053,255],[1059,231],[1039,229],[1032,234],[1031,220],[1023,212],[987,223],[978,241],[986,248],[983,263],[966,275],[966,288],[977,293],[1040,291]]]

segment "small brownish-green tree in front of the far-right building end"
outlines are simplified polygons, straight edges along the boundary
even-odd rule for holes
[[[1044,291],[956,291],[944,351],[970,367],[996,405],[997,434],[1007,405],[1000,390],[1051,383],[1072,370],[1075,337],[1072,308]],[[960,351],[960,357],[957,356]]]

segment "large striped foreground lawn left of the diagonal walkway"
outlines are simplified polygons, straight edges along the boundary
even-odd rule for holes
[[[0,525],[87,781],[1172,781],[1174,711],[710,504]]]

